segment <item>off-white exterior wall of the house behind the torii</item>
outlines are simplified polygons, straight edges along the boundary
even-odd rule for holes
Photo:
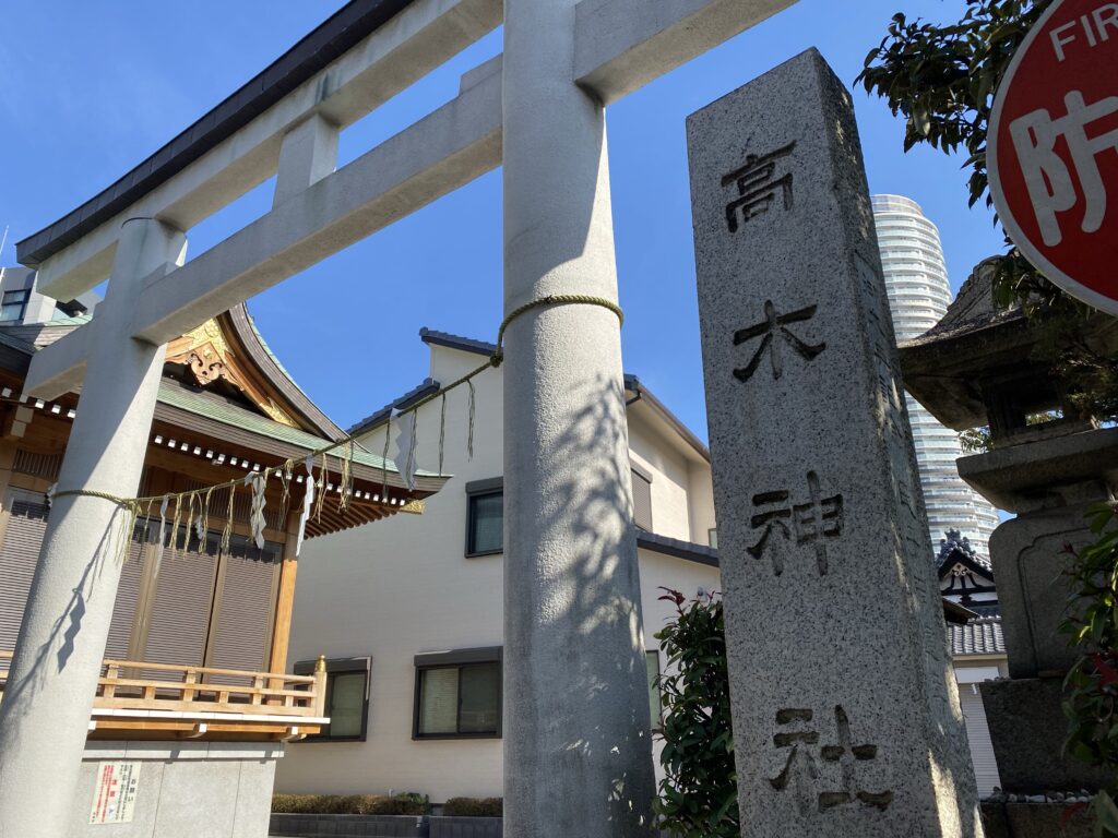
[[[434,346],[430,375],[453,381],[483,362],[479,354]],[[464,487],[503,475],[501,371],[490,370],[474,381],[473,459],[466,453],[466,389],[459,388],[446,407],[444,472],[454,477],[427,502],[423,516],[396,515],[304,547],[290,663],[319,655],[371,656],[368,734],[364,742],[293,744],[277,770],[277,791],[417,791],[434,802],[501,793],[501,740],[411,739],[415,655],[503,644],[503,556],[464,555]],[[704,523],[712,520],[709,492],[692,503],[686,458],[650,422],[633,425],[633,460],[653,474],[655,531],[705,544],[705,527],[693,537],[690,521],[694,510]],[[419,413],[418,463],[424,469],[438,469],[438,435],[435,403]],[[370,435],[364,445],[380,454],[383,434]],[[657,601],[660,587],[694,596],[700,587],[717,589],[719,575],[714,568],[644,550],[639,558],[645,647],[653,649],[652,635],[673,610]]]

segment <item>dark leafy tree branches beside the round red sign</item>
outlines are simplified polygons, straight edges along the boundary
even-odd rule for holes
[[[904,150],[927,145],[966,153],[968,206],[993,208],[986,169],[987,131],[998,85],[1029,30],[1052,0],[967,0],[961,19],[944,26],[902,12],[870,50],[858,82],[903,116]],[[995,223],[997,219],[995,216]],[[1006,250],[986,263],[994,298],[1022,306],[1038,341],[1034,355],[1071,385],[1080,415],[1118,418],[1118,353],[1093,339],[1114,318],[1064,294],[1005,239]]]

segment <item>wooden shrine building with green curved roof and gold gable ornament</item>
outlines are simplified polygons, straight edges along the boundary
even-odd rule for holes
[[[22,398],[23,377],[39,349],[91,320],[97,297],[57,304],[22,268],[0,274],[0,293],[2,698],[50,515],[49,493],[82,409],[76,393],[49,402]],[[141,496],[173,497],[288,460],[299,465],[286,491],[281,479],[267,482],[263,547],[250,537],[252,491],[240,484],[231,497],[228,488],[218,489],[207,510],[199,501],[173,520],[170,512],[161,515],[160,503],[141,510],[93,701],[73,835],[95,829],[87,825],[104,780],[98,772],[117,763],[143,769],[133,829],[199,796],[214,799],[219,820],[266,820],[283,743],[318,735],[330,721],[324,672],[312,666],[294,675],[286,659],[303,461],[342,437],[269,352],[244,305],[168,345]],[[398,513],[414,517],[445,482],[420,472],[408,489],[392,463],[356,448],[352,493],[342,511],[341,460],[330,457],[330,469],[321,510],[306,524],[310,543]],[[82,619],[79,606],[69,620]],[[192,773],[201,763],[209,779]],[[158,821],[146,826],[161,834]]]

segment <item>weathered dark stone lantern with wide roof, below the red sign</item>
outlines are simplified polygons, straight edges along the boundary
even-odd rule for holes
[[[983,684],[983,701],[1004,791],[1062,800],[1108,779],[1062,753],[1062,679],[1077,655],[1058,628],[1070,592],[1067,547],[1095,541],[1087,507],[1118,486],[1118,428],[1077,412],[1039,340],[1020,307],[995,305],[984,263],[900,356],[906,388],[940,422],[989,429],[988,449],[957,463],[964,480],[1015,515],[989,541],[1010,678]],[[1100,315],[1083,340],[1112,352],[1118,321]]]

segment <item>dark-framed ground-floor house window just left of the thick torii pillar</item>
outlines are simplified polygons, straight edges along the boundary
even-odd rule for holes
[[[416,655],[413,739],[501,736],[501,647]]]

